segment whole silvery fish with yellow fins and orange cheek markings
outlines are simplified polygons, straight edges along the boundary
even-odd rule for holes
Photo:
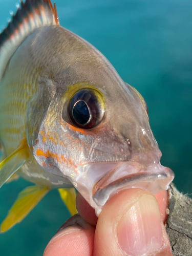
[[[94,46],[59,24],[50,0],[21,2],[0,34],[0,187],[23,177],[1,224],[21,222],[52,189],[72,215],[76,190],[99,216],[118,191],[167,189],[147,104]]]

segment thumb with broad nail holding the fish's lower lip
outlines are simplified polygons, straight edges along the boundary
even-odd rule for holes
[[[171,256],[168,237],[155,197],[141,189],[123,190],[103,207],[94,256]]]

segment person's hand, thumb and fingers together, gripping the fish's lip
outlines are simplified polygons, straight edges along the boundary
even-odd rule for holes
[[[165,231],[168,193],[153,196],[138,188],[113,196],[99,215],[77,194],[79,214],[47,245],[44,256],[171,256]]]

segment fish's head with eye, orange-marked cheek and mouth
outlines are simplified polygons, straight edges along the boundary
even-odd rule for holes
[[[71,55],[63,50],[48,71],[30,102],[29,126],[36,122],[38,129],[28,133],[33,155],[47,172],[69,179],[97,215],[124,188],[153,194],[168,188],[174,174],[160,164],[145,100],[101,53],[93,47]],[[44,105],[38,121],[36,102]]]

